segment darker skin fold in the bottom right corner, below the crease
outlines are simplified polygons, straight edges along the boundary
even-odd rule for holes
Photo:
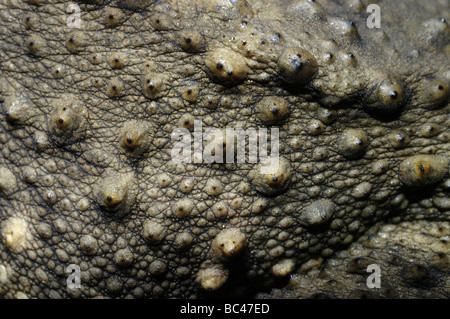
[[[289,285],[258,298],[443,298],[450,296],[447,222],[412,221],[374,227],[328,259],[312,260]],[[367,271],[379,268],[379,286]]]

